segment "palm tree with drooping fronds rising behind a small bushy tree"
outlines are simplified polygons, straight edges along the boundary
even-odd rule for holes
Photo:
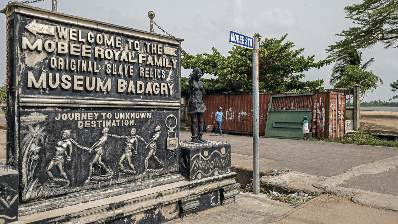
[[[358,51],[357,49],[352,49],[346,55],[339,57],[336,60],[336,63],[332,67],[332,75],[329,79],[330,85],[335,85],[344,76],[344,68],[346,65],[358,65],[361,70],[366,70],[369,65],[372,64],[375,58],[372,57],[367,62],[362,65],[362,52]],[[383,84],[383,81],[380,77],[376,76],[380,84]]]

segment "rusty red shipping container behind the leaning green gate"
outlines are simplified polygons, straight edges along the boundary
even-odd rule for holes
[[[259,94],[259,131],[265,134],[267,114],[272,110],[311,110],[310,129],[315,138],[341,138],[345,135],[345,95],[337,92],[282,92]],[[278,97],[282,95],[289,95]],[[297,95],[297,96],[295,96]],[[272,105],[269,103],[272,97]],[[221,106],[227,120],[222,122],[224,132],[252,134],[252,94],[206,95],[207,111],[203,114],[206,125],[212,125],[215,112]],[[301,120],[301,118],[298,118]],[[188,117],[187,125],[190,125]]]

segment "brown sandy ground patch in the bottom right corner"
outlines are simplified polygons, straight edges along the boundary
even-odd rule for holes
[[[398,223],[398,212],[354,204],[347,198],[324,195],[275,224],[385,224]]]

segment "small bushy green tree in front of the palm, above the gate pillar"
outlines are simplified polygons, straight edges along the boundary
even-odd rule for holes
[[[344,75],[334,85],[334,88],[349,88],[355,84],[361,85],[359,88],[361,102],[367,97],[369,92],[373,92],[373,90],[379,87],[380,78],[373,74],[373,71],[365,71],[358,65],[346,65],[343,73]]]

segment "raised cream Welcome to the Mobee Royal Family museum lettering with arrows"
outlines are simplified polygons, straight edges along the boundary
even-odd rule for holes
[[[49,54],[43,71],[25,71],[27,88],[165,96],[175,92],[167,75],[180,66],[176,47],[36,20],[25,28],[34,36],[20,37],[22,50]]]

